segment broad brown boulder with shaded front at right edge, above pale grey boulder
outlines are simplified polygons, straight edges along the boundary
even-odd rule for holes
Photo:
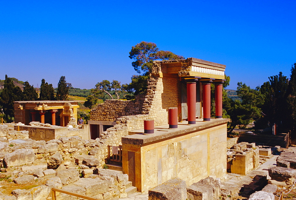
[[[283,167],[270,167],[268,174],[273,180],[286,181],[288,178],[296,176],[296,170]]]

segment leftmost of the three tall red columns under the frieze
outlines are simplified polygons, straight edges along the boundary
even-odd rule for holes
[[[187,82],[188,124],[196,124],[196,82]]]

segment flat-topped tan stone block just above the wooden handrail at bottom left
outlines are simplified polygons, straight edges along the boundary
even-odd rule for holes
[[[100,178],[80,178],[73,184],[85,188],[86,195],[89,196],[107,192],[109,189],[107,186],[107,181],[104,181]]]

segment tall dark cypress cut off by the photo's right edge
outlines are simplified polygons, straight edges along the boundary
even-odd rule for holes
[[[292,65],[291,76],[287,89],[287,127],[296,128],[296,63]]]

